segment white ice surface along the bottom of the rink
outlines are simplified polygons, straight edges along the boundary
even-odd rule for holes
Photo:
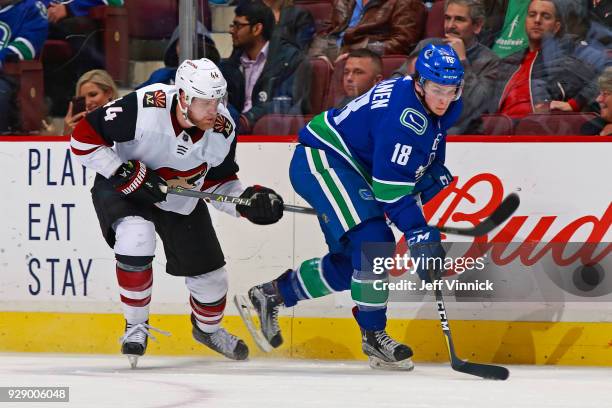
[[[0,386],[68,386],[70,403],[17,407],[566,408],[612,406],[612,369],[508,366],[507,381],[448,365],[375,371],[366,362],[0,354]]]

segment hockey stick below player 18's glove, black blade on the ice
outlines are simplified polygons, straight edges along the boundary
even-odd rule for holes
[[[429,276],[433,276],[431,271]],[[491,365],[491,364],[479,364],[471,363],[469,361],[461,360],[455,354],[455,346],[453,345],[453,338],[450,333],[450,326],[448,325],[448,318],[446,316],[446,306],[444,305],[444,298],[442,297],[442,291],[438,285],[434,286],[436,293],[436,304],[438,305],[438,315],[440,316],[440,323],[442,325],[442,332],[446,339],[446,347],[448,349],[448,355],[451,360],[451,367],[455,371],[459,371],[465,374],[475,375],[477,377],[487,378],[490,380],[505,380],[510,375],[510,371],[507,368]]]

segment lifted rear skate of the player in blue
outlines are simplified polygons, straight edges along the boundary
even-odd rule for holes
[[[283,304],[283,298],[274,281],[252,287],[248,298],[243,295],[234,296],[234,303],[260,349],[269,352],[283,344],[278,326],[278,310]],[[259,329],[253,319],[252,310],[255,310],[259,317]]]

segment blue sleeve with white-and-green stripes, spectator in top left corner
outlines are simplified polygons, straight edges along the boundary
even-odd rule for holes
[[[18,31],[12,33],[6,47],[0,50],[0,63],[3,63],[11,54],[13,58],[22,61],[35,59],[40,55],[43,43],[47,39],[49,21],[44,5],[32,2],[23,7],[28,7],[23,14],[23,24],[20,25]],[[8,32],[10,33],[11,30]]]

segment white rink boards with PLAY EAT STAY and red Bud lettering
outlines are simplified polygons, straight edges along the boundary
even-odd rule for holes
[[[489,235],[444,236],[453,261],[445,265],[445,280],[456,282],[443,288],[449,300],[538,304],[611,300],[612,194],[607,175],[612,174],[612,144],[585,140],[490,138],[448,143],[447,165],[454,181],[425,205],[430,224],[477,225],[507,194],[515,192],[521,198],[515,214]],[[292,142],[270,138],[240,143],[241,180],[269,185],[286,202],[307,205],[289,182],[294,147]],[[94,175],[72,158],[65,138],[5,140],[0,148],[4,155],[0,166],[8,175],[4,195],[10,197],[0,202],[5,231],[0,238],[0,308],[119,311],[113,251],[100,235],[90,200]],[[227,260],[230,296],[327,251],[314,216],[286,214],[262,230],[212,212]],[[406,246],[395,232],[398,243],[393,250],[401,257],[407,254]],[[461,264],[459,258],[469,262]],[[413,261],[388,268],[388,284],[397,283],[391,290],[392,301],[408,304],[428,296],[427,288],[421,288],[411,273]],[[152,310],[183,312],[183,282],[164,274],[164,264],[158,243]],[[410,282],[413,290],[402,287]],[[491,283],[494,290],[489,290]],[[333,302],[342,309],[349,301],[338,295]],[[336,309],[330,311],[324,301],[306,303],[300,313],[344,316]]]

